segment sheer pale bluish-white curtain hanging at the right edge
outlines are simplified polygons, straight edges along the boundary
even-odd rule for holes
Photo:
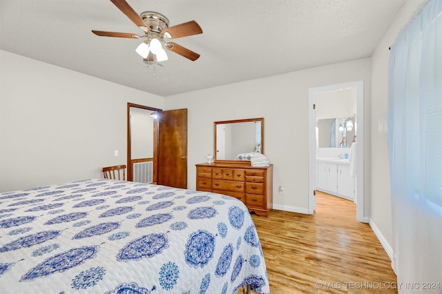
[[[398,291],[442,293],[442,0],[427,1],[391,47],[388,96]]]

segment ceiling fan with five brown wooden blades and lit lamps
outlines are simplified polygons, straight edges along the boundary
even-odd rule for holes
[[[162,46],[182,57],[190,59],[191,61],[195,61],[200,57],[198,53],[184,48],[177,43],[164,41],[164,39],[177,39],[180,37],[202,34],[202,29],[196,21],[188,21],[186,23],[169,27],[169,19],[158,12],[145,11],[138,15],[125,0],[111,0],[111,2],[126,14],[126,16],[131,19],[138,28],[141,28],[144,31],[144,35],[140,36],[129,32],[105,32],[102,30],[92,30],[95,35],[145,39],[136,49],[137,53],[142,55],[144,61],[155,62],[167,60],[166,51]]]

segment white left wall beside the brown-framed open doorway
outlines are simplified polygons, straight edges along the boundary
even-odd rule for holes
[[[127,102],[163,108],[162,97],[3,50],[0,63],[0,192],[102,177],[126,164]]]

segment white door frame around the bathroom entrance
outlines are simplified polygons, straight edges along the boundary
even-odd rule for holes
[[[316,93],[356,88],[356,115],[358,117],[358,148],[356,149],[356,220],[368,222],[364,215],[364,82],[352,81],[309,88],[309,214],[316,209]]]

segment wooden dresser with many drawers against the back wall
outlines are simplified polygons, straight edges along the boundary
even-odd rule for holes
[[[273,165],[256,167],[240,164],[196,164],[196,189],[240,199],[259,216],[273,207]]]

